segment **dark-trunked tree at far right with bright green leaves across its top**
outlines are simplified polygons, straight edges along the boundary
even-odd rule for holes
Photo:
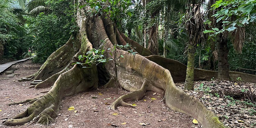
[[[227,42],[231,40],[235,51],[242,52],[245,41],[245,27],[249,23],[255,23],[256,0],[227,0],[216,1],[212,5],[215,10],[215,28],[206,30],[205,33],[214,33],[217,36],[218,53],[218,78],[219,80],[230,80],[228,64]]]

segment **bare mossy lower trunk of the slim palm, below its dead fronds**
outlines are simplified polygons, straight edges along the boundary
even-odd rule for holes
[[[184,89],[194,90],[195,46],[188,44],[187,73]]]

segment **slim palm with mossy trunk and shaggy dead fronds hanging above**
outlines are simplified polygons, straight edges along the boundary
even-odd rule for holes
[[[187,48],[187,73],[184,89],[194,90],[194,66],[195,66],[195,46],[202,42],[203,18],[201,12],[201,1],[192,0],[189,2],[186,12],[186,28],[189,36]]]

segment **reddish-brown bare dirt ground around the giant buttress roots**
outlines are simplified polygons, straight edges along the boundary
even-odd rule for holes
[[[25,61],[13,65],[18,67],[15,77],[10,79],[2,79],[6,74],[0,74],[0,122],[11,119],[15,114],[23,112],[29,104],[6,105],[10,102],[18,102],[29,98],[39,97],[43,95],[43,91],[50,88],[34,89],[30,87],[30,82],[18,82],[19,78],[36,72],[40,65],[33,64],[31,61]],[[129,92],[119,89],[119,94],[115,95],[114,88],[100,87],[97,90],[75,94],[66,97],[60,102],[59,115],[55,122],[49,124],[50,128],[98,128],[98,127],[152,127],[152,128],[199,128],[199,124],[193,124],[192,117],[179,112],[172,111],[165,107],[162,101],[162,94],[154,94],[147,92],[146,96],[139,101],[128,102],[136,104],[133,107],[117,107],[116,111],[109,109],[109,106],[115,99]],[[153,95],[154,94],[154,95]],[[155,98],[156,100],[151,100]],[[144,100],[145,99],[145,100]],[[69,107],[74,110],[69,111]],[[75,113],[76,112],[76,113]],[[113,115],[117,113],[117,115]],[[121,124],[123,123],[123,124]],[[145,123],[147,126],[140,125]],[[2,126],[0,127],[47,127],[41,124],[26,124],[23,126]]]

